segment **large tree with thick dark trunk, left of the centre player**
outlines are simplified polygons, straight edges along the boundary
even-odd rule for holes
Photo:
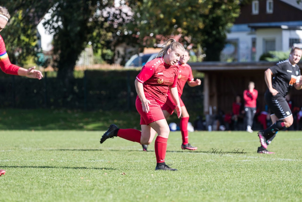
[[[114,0],[61,0],[50,13],[44,26],[54,34],[57,77],[65,80],[66,85],[73,77],[76,60],[87,43],[93,42],[95,49],[114,49],[114,36],[121,33],[118,30],[122,30],[122,25],[130,18],[127,11],[114,8]],[[119,35],[119,40],[123,40],[123,35]]]

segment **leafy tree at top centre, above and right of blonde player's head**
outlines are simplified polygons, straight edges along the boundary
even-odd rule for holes
[[[226,32],[239,16],[240,3],[245,0],[130,0],[134,5],[134,22],[128,25],[153,46],[160,38],[153,36],[181,34],[181,42],[201,45],[207,61],[218,61],[225,45]],[[148,36],[148,37],[146,37]]]

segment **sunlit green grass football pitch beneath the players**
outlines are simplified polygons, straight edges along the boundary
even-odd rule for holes
[[[104,131],[0,131],[0,201],[301,201],[302,134],[281,131],[257,154],[256,132],[171,132],[166,163]],[[153,140],[154,143],[154,140]],[[212,148],[229,154],[208,154]],[[246,154],[232,154],[235,148]]]

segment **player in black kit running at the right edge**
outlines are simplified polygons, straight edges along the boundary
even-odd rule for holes
[[[276,133],[293,124],[293,115],[285,95],[294,86],[297,90],[302,88],[301,72],[297,63],[300,61],[302,50],[297,47],[291,49],[289,58],[278,62],[265,71],[265,83],[268,87],[264,97],[265,103],[271,110],[272,125],[258,132],[261,146],[258,153],[271,154],[266,150],[268,144],[274,139]],[[272,75],[274,75],[273,80]]]

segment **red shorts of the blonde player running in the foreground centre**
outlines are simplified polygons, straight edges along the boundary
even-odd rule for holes
[[[147,100],[151,102],[149,104],[149,112],[143,112],[143,106],[142,102],[140,101],[140,98],[137,96],[135,101],[135,106],[140,114],[140,125],[149,125],[149,123],[152,123],[154,121],[158,121],[161,119],[165,119],[164,114],[162,113],[162,109],[160,105],[155,101],[154,98],[151,96],[146,96]]]

